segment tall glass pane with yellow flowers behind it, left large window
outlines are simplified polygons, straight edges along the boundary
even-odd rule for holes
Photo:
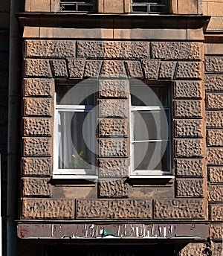
[[[91,112],[59,112],[59,169],[91,169]]]

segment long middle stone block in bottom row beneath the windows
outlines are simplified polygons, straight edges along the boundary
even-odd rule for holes
[[[151,219],[150,200],[77,200],[77,219]]]

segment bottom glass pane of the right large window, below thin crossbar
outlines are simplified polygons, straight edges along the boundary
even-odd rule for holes
[[[167,142],[139,142],[133,148],[135,170],[169,170]]]

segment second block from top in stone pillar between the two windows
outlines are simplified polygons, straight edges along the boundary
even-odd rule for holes
[[[128,100],[99,100],[100,118],[127,118]]]

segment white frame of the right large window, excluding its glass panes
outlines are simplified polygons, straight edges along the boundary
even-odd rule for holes
[[[151,85],[149,87],[158,87],[159,85]],[[164,85],[161,85],[164,86]],[[161,106],[132,106],[131,104],[131,98],[129,100],[130,106],[129,106],[129,111],[130,111],[130,167],[129,167],[129,178],[173,178],[172,176],[172,156],[171,156],[171,107],[170,107],[170,98],[169,98],[169,88],[168,88],[168,106],[167,107],[161,107]],[[131,94],[130,94],[131,97]],[[143,141],[134,141],[133,136],[134,136],[134,129],[133,129],[133,113],[134,112],[143,112],[143,111],[168,111],[168,116],[167,116],[167,121],[168,121],[168,140],[143,140]],[[169,156],[168,156],[168,165],[169,165],[169,170],[135,170],[134,165],[135,165],[135,159],[134,159],[134,143],[140,143],[140,142],[162,142],[162,141],[167,141],[167,147],[169,151]]]

